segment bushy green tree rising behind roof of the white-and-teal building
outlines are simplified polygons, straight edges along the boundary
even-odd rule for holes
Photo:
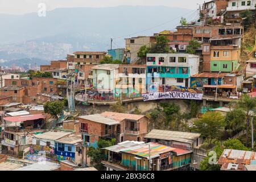
[[[160,35],[156,37],[156,44],[151,47],[150,53],[168,53],[170,52],[170,48],[168,46],[167,36]]]

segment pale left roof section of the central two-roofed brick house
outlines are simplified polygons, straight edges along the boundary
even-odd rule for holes
[[[81,119],[87,119],[89,121],[97,122],[97,123],[102,123],[105,125],[118,125],[120,122],[115,121],[114,119],[104,117],[101,114],[92,114],[92,115],[82,115],[79,118]]]

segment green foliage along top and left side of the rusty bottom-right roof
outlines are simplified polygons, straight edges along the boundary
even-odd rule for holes
[[[228,139],[224,141],[222,145],[220,141],[216,141],[215,146],[213,148],[213,151],[216,152],[216,155],[217,155],[216,162],[222,155],[224,149],[249,151],[249,148],[245,147],[242,144],[242,142],[238,139]],[[211,155],[209,155],[208,153],[207,157],[204,158],[204,160],[200,163],[200,170],[201,171],[220,171],[220,167],[221,167],[220,165],[209,163],[210,157]]]

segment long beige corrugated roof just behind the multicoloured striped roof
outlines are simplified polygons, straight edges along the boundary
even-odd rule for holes
[[[154,138],[162,140],[174,140],[177,142],[193,143],[200,137],[199,133],[188,133],[183,131],[168,131],[168,130],[152,130],[146,134],[144,138]]]

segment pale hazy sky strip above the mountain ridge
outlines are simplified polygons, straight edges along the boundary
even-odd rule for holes
[[[206,0],[207,1],[207,0]],[[204,0],[0,0],[0,13],[25,14],[38,11],[46,3],[47,11],[57,7],[110,7],[121,5],[170,6],[196,9]]]

